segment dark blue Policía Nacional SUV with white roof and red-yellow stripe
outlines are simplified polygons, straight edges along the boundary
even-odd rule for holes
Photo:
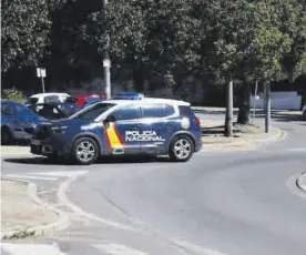
[[[165,99],[110,100],[67,120],[34,128],[31,153],[91,164],[103,155],[169,155],[185,162],[202,147],[190,103]]]

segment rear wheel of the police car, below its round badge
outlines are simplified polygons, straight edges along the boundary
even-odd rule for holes
[[[169,156],[175,162],[186,162],[191,159],[194,152],[194,143],[188,135],[180,134],[176,135],[169,150]]]

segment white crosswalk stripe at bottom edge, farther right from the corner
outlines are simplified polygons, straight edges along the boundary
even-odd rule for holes
[[[141,252],[121,244],[96,244],[92,246],[111,255],[150,255],[149,253]]]

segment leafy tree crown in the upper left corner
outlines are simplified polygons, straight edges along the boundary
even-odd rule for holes
[[[50,26],[47,0],[3,0],[2,71],[37,64],[49,43]]]

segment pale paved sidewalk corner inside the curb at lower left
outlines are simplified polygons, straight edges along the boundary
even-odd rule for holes
[[[59,216],[35,204],[23,182],[1,180],[1,237],[26,237],[31,227],[48,225]]]

